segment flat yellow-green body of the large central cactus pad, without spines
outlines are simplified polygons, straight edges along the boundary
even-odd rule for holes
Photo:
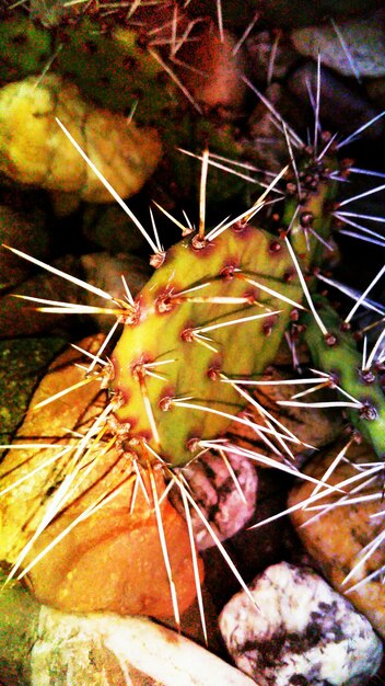
[[[144,441],[174,466],[191,460],[200,439],[221,437],[246,404],[223,378],[260,374],[275,357],[294,306],[256,284],[294,302],[302,295],[284,243],[265,231],[235,225],[201,245],[197,239],[166,253],[138,296],[133,321],[112,358],[124,448],[140,455]],[[224,322],[229,325],[210,329]],[[197,340],[197,333],[207,338]]]

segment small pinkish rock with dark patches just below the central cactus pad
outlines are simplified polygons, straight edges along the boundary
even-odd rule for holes
[[[257,472],[248,459],[228,454],[228,460],[230,468],[220,455],[208,453],[203,460],[194,461],[184,469],[195,502],[221,541],[234,536],[250,518],[258,487]],[[179,491],[174,489],[171,500],[184,515]],[[191,521],[198,549],[214,546],[212,536],[192,508]]]

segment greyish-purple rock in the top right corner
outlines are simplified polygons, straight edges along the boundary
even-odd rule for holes
[[[338,35],[340,34],[340,35]],[[296,28],[291,39],[301,55],[347,77],[385,76],[384,12],[372,16]],[[345,45],[342,45],[342,42]]]

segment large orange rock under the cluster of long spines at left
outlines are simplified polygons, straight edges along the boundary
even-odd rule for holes
[[[81,346],[95,354],[102,341],[90,339]],[[84,384],[79,362],[84,358],[73,350],[55,361],[15,437],[23,447],[9,450],[1,464],[0,560],[19,560],[24,570],[31,563],[34,595],[59,609],[170,617],[175,605],[153,500],[153,489],[159,499],[165,490],[162,472],[153,468],[150,488],[141,470],[143,488],[133,496],[129,455],[110,447],[105,423],[107,443],[88,434],[107,400],[101,380],[91,376]],[[77,384],[55,402],[32,409]],[[88,436],[86,450],[74,439],[79,433]],[[196,597],[202,564],[198,559],[194,569],[186,523],[166,498],[159,512],[182,613]]]

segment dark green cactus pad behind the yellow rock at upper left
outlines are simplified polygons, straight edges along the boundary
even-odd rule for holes
[[[108,23],[107,19],[97,16],[97,11],[95,15],[91,12],[91,18],[72,20],[75,30],[62,19],[55,32],[19,13],[7,15],[0,25],[0,80],[14,82],[35,75],[42,89],[49,89],[50,82],[61,82],[66,100],[73,95],[65,91],[71,89],[73,93],[78,87],[89,110],[107,108],[108,117],[120,117],[125,123],[128,117],[139,130],[156,128],[165,151],[158,183],[170,196],[175,194],[177,183],[178,193],[188,198],[196,190],[195,164],[191,157],[180,156],[177,148],[192,147],[197,151],[210,140],[211,149],[219,155],[241,160],[242,146],[236,141],[232,123],[222,122],[215,113],[196,116],[200,106],[184,85],[173,59],[158,49],[156,42],[152,45],[150,30],[163,23],[167,25],[170,7],[163,11],[158,8],[150,14],[144,8],[142,12],[141,21],[138,22],[136,14],[131,23],[114,20]],[[179,12],[176,31],[182,44],[188,26]],[[170,32],[168,27],[165,43]],[[103,165],[102,159],[105,158],[100,158]],[[172,190],[167,186],[168,178]],[[210,202],[218,199],[219,193],[223,202],[244,195],[244,187],[234,176],[228,180],[217,174],[215,179],[212,174],[208,187]]]

